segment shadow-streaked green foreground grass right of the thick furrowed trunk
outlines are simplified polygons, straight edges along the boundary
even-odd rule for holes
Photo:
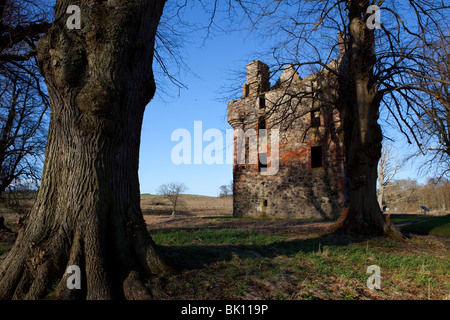
[[[208,228],[152,237],[179,267],[178,274],[154,280],[156,299],[449,298],[447,239]],[[369,265],[381,268],[381,290],[367,288]]]

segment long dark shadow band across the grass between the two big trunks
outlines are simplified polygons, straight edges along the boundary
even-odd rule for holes
[[[373,237],[356,237],[342,234],[323,234],[314,238],[275,241],[267,245],[185,245],[162,246],[164,255],[179,271],[200,269],[215,262],[230,261],[233,256],[240,259],[275,258],[292,256],[300,252],[319,252],[332,246],[346,246],[365,242]]]

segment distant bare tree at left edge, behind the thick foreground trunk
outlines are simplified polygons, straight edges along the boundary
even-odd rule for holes
[[[47,106],[42,104],[39,93],[30,82],[6,77],[2,80],[0,195],[12,183],[38,183],[46,143],[47,111]]]

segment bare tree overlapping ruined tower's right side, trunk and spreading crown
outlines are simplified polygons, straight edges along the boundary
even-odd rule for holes
[[[295,114],[290,110],[305,102],[311,107],[297,116],[323,106],[339,110],[350,200],[336,230],[398,236],[381,214],[376,194],[383,137],[379,114],[386,107],[400,130],[412,134],[405,119],[417,86],[411,84],[409,75],[426,63],[423,43],[429,41],[428,35],[446,28],[449,7],[439,0],[227,3],[229,12],[240,12],[250,21],[250,31],[272,41],[274,77],[290,65],[296,72],[281,82],[310,80],[300,95],[275,102],[273,112]],[[377,8],[379,26],[373,23]],[[311,73],[314,76],[302,79]],[[290,94],[286,89],[285,96]]]

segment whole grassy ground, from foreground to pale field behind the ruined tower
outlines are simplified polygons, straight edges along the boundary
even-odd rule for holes
[[[393,214],[408,234],[393,241],[329,234],[332,221],[233,218],[231,198],[183,200],[171,216],[162,197],[142,196],[148,230],[178,271],[152,280],[155,299],[450,299],[450,216]],[[13,227],[17,214],[5,214]],[[11,245],[0,238],[0,256]],[[380,290],[367,287],[370,265]]]

